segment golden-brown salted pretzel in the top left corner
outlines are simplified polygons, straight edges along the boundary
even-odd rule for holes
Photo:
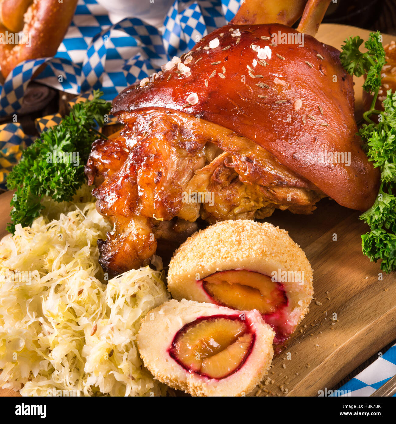
[[[4,78],[28,59],[54,56],[70,25],[77,0],[3,0],[0,3],[0,65]],[[25,34],[24,44],[18,33]],[[13,34],[15,44],[8,43]],[[26,37],[28,35],[28,37]]]

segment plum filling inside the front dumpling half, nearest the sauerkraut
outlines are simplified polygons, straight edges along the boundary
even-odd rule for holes
[[[183,326],[169,355],[191,373],[222,379],[241,368],[254,341],[255,334],[239,315],[212,315]]]

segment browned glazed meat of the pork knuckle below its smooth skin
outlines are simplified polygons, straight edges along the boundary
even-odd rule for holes
[[[99,242],[113,276],[166,256],[210,223],[265,218],[275,208],[310,213],[322,193],[252,140],[184,112],[130,112],[118,137],[97,140],[86,165],[97,209],[114,224]],[[207,193],[210,198],[190,198]],[[213,200],[213,201],[212,201]],[[296,210],[297,208],[297,210]]]

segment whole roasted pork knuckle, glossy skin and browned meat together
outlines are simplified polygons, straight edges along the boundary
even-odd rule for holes
[[[280,24],[233,27],[114,100],[125,128],[95,142],[86,165],[97,209],[114,224],[99,243],[112,275],[147,264],[158,243],[173,249],[199,217],[310,213],[325,196],[366,210],[375,200],[379,171],[355,134],[338,50],[306,34],[302,45]]]

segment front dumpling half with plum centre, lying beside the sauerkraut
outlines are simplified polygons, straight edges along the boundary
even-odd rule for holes
[[[193,396],[242,396],[267,373],[274,332],[258,311],[171,300],[142,321],[138,348],[159,381]]]

